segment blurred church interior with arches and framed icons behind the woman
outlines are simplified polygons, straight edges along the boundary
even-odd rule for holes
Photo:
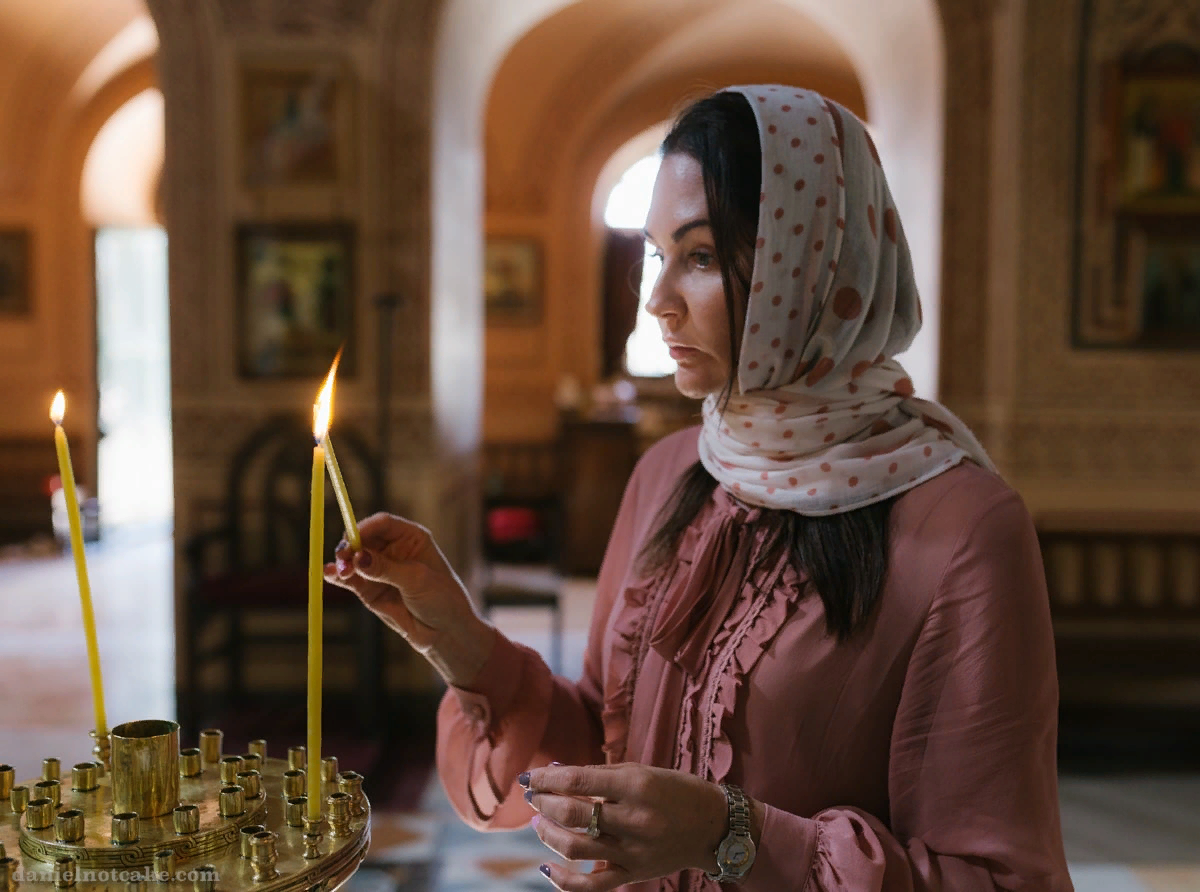
[[[1195,0],[0,2],[0,761],[95,726],[60,389],[113,723],[302,742],[338,349],[359,517],[428,527],[578,677],[623,487],[698,419],[644,310],[656,148],[745,83],[866,122],[924,306],[900,359],[1034,519],[1075,888],[1200,890]],[[350,887],[547,887],[532,831],[450,812],[436,674],[332,586],[324,629],[373,803]]]

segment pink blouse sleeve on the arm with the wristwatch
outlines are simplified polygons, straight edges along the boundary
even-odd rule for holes
[[[743,886],[1069,892],[1057,706],[1037,537],[1006,491],[965,525],[913,651],[892,734],[889,822],[767,806]]]

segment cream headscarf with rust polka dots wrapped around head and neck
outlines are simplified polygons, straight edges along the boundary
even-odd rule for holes
[[[743,502],[805,515],[890,498],[967,457],[994,469],[893,359],[920,299],[862,121],[808,90],[730,89],[758,120],[762,193],[738,389],[724,413],[704,400],[704,467]]]

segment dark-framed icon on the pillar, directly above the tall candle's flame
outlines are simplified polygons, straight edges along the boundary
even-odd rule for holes
[[[319,378],[342,343],[342,373],[353,373],[349,225],[242,226],[238,269],[238,359],[244,377]]]

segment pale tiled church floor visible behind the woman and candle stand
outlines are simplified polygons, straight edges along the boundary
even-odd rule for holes
[[[109,724],[173,714],[169,541],[127,534],[89,551]],[[564,599],[563,672],[578,677],[592,585]],[[91,698],[68,559],[0,559],[0,761],[37,773],[43,755],[86,753]],[[545,618],[498,613],[517,640],[544,649]],[[1060,782],[1063,832],[1079,892],[1200,892],[1200,776]],[[434,779],[415,814],[383,814],[353,892],[544,890],[550,854],[533,831],[480,834],[462,825]]]

